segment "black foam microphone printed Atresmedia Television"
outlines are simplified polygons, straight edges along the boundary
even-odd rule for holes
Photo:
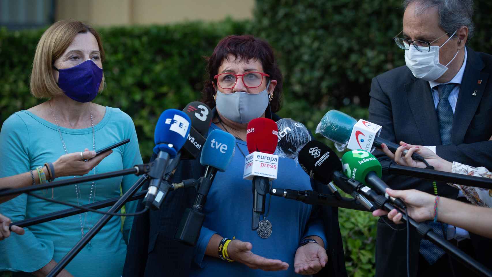
[[[299,164],[311,179],[328,185],[338,200],[341,195],[334,185],[333,173],[341,170],[340,160],[337,154],[323,143],[312,140],[299,152]]]

